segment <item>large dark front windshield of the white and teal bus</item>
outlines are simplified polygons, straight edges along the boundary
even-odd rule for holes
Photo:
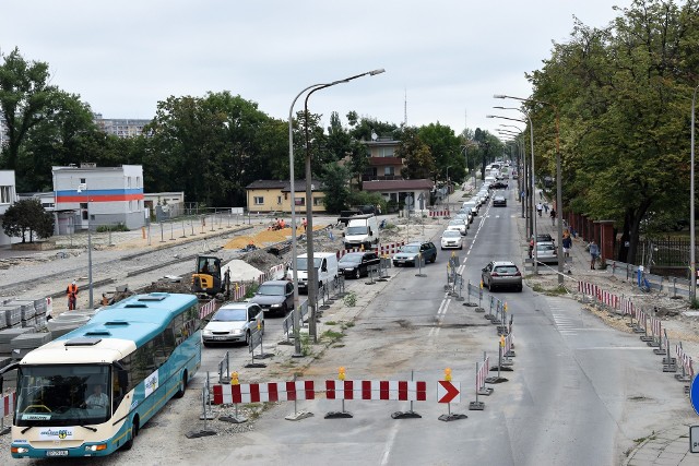
[[[110,366],[22,366],[15,426],[76,426],[111,416]]]

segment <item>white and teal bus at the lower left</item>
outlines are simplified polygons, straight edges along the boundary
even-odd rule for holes
[[[130,449],[139,428],[185,394],[200,366],[193,295],[120,301],[2,370],[17,370],[12,456],[103,456]]]

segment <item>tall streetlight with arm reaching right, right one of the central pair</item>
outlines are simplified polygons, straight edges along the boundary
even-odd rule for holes
[[[305,128],[305,133],[306,133],[306,241],[307,241],[306,255],[308,258],[307,259],[308,261],[308,306],[310,307],[308,331],[313,336],[313,343],[318,342],[318,335],[316,331],[316,295],[318,291],[318,275],[316,274],[316,263],[313,260],[313,216],[312,216],[313,200],[312,200],[312,187],[311,187],[312,179],[311,179],[311,170],[310,170],[310,139],[308,136],[308,99],[310,98],[311,94],[313,94],[317,91],[324,89],[325,87],[331,87],[336,84],[348,83],[350,81],[356,80],[357,77],[362,77],[362,76],[367,76],[367,75],[375,76],[377,74],[383,73],[384,71],[386,70],[381,68],[378,70],[367,71],[366,73],[345,77],[344,80],[333,81],[332,83],[310,86],[308,87],[310,88],[310,91],[308,92],[308,94],[306,94],[306,100],[304,103],[304,116],[306,120],[306,128]],[[292,223],[294,223],[294,220],[292,220]]]

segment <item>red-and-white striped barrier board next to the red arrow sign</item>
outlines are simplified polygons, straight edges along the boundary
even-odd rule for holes
[[[328,399],[392,399],[399,402],[425,402],[427,382],[423,381],[372,381],[327,380]]]

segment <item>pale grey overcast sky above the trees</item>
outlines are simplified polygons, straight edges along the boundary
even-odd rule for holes
[[[310,111],[400,124],[407,109],[410,126],[494,132],[505,121],[485,118],[502,105],[493,95],[529,96],[524,73],[570,37],[573,16],[603,27],[630,2],[7,1],[0,51],[48,62],[54,84],[104,118],[151,119],[170,95],[230,91],[285,120],[303,88],[383,68],[315,93]]]

